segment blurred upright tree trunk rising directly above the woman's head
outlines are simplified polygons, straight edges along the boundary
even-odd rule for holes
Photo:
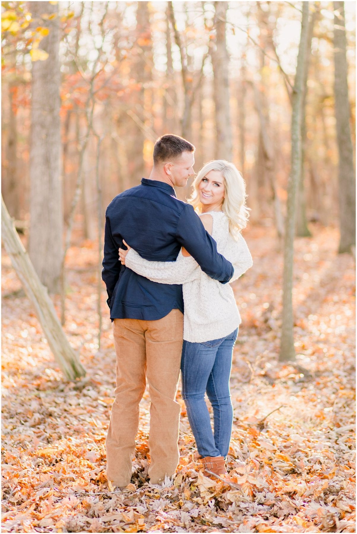
[[[229,57],[226,46],[228,2],[215,2],[216,50],[211,51],[216,122],[215,158],[232,161],[232,131],[229,105]]]

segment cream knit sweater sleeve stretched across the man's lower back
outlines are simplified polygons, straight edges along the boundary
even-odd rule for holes
[[[174,262],[152,262],[144,260],[133,248],[125,258],[125,265],[137,274],[159,284],[184,284],[199,277],[198,263],[181,252]]]

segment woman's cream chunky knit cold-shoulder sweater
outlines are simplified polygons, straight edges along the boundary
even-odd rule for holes
[[[217,243],[217,250],[234,267],[232,282],[253,265],[252,256],[242,235],[239,235],[238,241],[232,237],[228,218],[222,211],[210,211],[209,215],[213,218],[212,237]],[[152,262],[144,260],[131,248],[125,264],[154,282],[182,284],[184,340],[201,343],[220,339],[241,323],[230,285],[210,278],[192,256],[183,256],[180,251],[174,262]]]

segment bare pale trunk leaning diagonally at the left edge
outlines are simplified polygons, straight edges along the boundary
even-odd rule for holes
[[[59,323],[57,313],[48,295],[48,290],[41,284],[30,258],[22,245],[12,219],[1,197],[1,231],[7,254],[19,277],[29,300],[33,303],[38,321],[46,336],[56,362],[67,379],[74,380],[84,376],[86,371],[69,345],[67,337]]]

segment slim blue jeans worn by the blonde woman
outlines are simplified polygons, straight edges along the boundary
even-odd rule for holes
[[[183,342],[182,398],[200,456],[226,457],[232,431],[233,409],[229,375],[238,328],[226,337],[203,343]],[[214,434],[205,402],[213,407]]]

